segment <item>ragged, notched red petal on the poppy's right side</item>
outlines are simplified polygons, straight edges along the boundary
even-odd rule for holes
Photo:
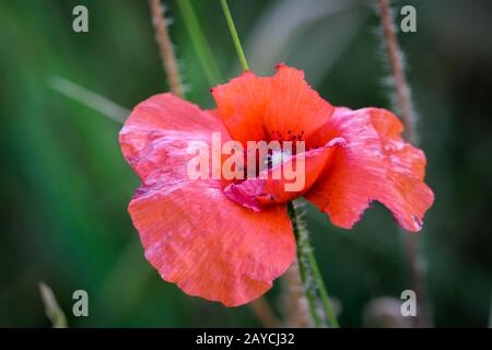
[[[386,109],[341,107],[325,130],[330,137],[343,137],[347,145],[337,151],[305,198],[341,228],[352,228],[377,200],[400,226],[420,231],[434,195],[423,182],[425,155],[401,139],[398,118]]]

